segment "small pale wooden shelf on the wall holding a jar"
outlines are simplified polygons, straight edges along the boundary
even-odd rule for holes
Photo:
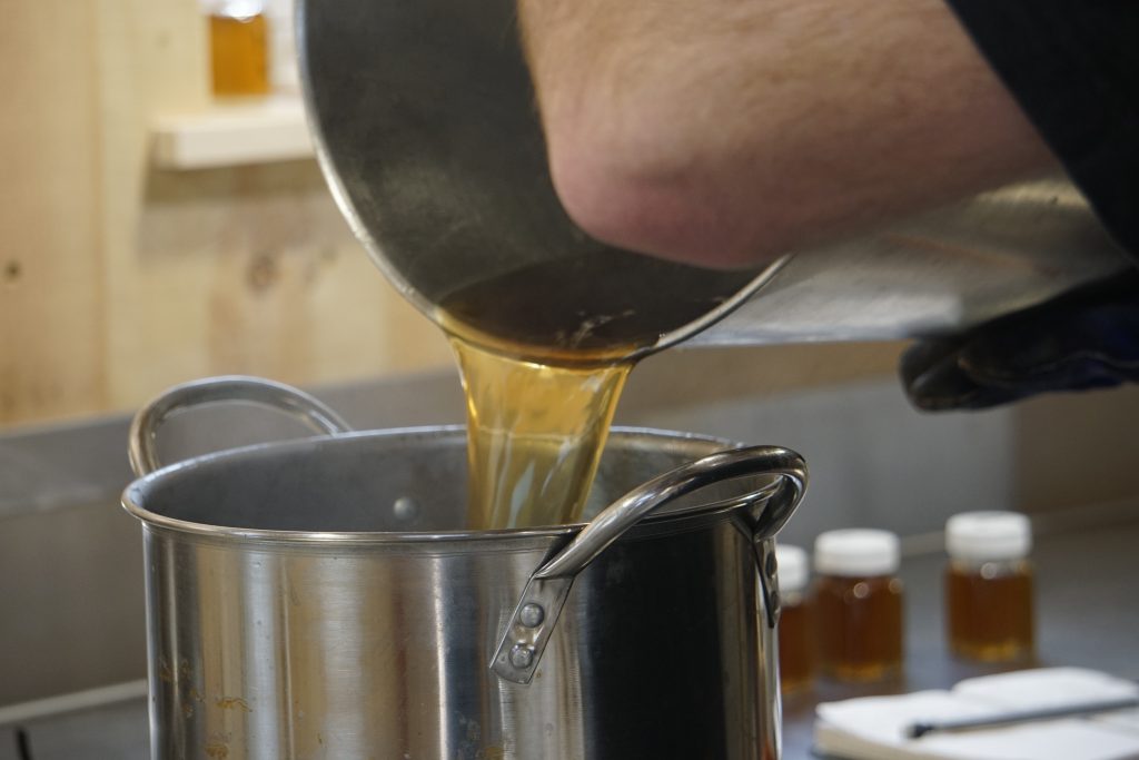
[[[154,162],[161,169],[210,169],[310,158],[312,138],[298,97],[221,101],[207,111],[159,116]]]

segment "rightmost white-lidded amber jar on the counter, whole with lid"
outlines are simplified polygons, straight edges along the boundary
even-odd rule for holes
[[[1032,526],[1015,512],[966,512],[945,523],[945,618],[954,655],[1016,662],[1034,654]]]

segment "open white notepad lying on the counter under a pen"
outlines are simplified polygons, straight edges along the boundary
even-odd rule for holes
[[[850,760],[1139,760],[1139,710],[909,738],[916,722],[984,718],[1139,696],[1139,685],[1080,668],[970,678],[951,690],[817,708],[816,749]]]

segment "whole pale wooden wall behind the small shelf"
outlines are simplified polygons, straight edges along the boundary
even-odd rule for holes
[[[210,100],[197,0],[0,8],[0,425],[212,374],[312,384],[450,361],[316,162],[151,169],[155,115]]]

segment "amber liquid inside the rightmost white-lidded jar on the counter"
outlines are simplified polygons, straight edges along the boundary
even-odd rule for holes
[[[951,562],[945,571],[945,598],[954,655],[980,662],[1033,656],[1032,566],[1027,562]]]

